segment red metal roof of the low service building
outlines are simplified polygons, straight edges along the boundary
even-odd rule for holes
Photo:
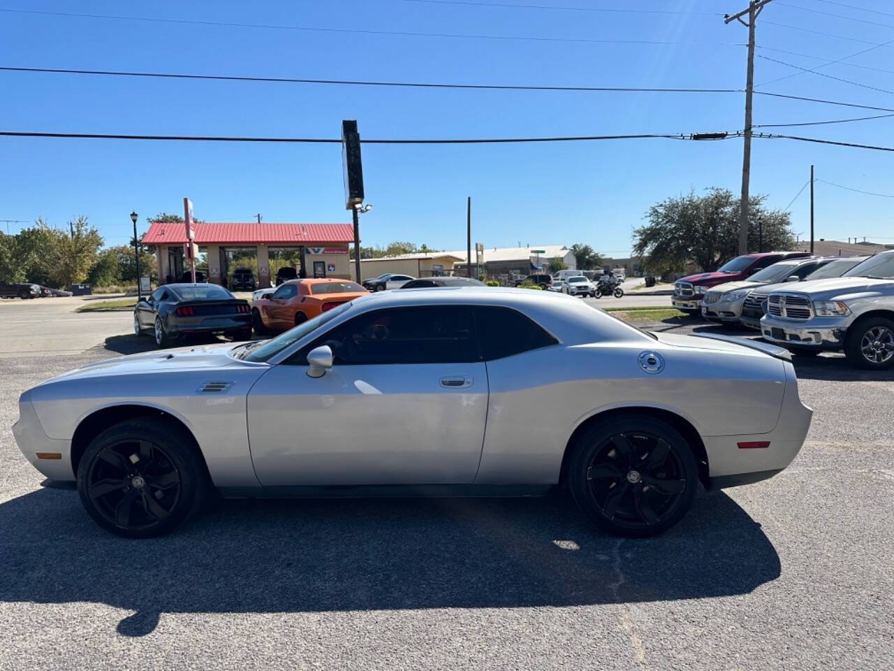
[[[353,242],[350,224],[278,224],[274,222],[220,223],[195,222],[196,244],[305,244],[312,242]],[[177,223],[155,222],[143,236],[143,244],[182,244],[186,227]]]

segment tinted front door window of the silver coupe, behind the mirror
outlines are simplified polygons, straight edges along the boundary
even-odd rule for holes
[[[289,363],[306,364],[321,345],[332,349],[336,366],[481,361],[472,310],[461,305],[367,312],[319,336]]]

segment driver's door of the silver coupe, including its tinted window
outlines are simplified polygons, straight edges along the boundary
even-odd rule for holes
[[[333,368],[310,378],[307,353],[323,344]],[[370,310],[258,379],[252,462],[265,486],[468,484],[487,398],[470,308]]]

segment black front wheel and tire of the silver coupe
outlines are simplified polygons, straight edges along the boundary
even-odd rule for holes
[[[78,464],[84,509],[106,531],[131,539],[172,531],[198,513],[209,490],[191,437],[164,420],[126,420],[105,429]]]

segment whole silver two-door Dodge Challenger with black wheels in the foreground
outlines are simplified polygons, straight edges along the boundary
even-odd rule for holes
[[[529,496],[671,527],[705,488],[784,469],[812,411],[789,352],[640,331],[555,293],[411,289],[271,340],[100,361],[21,395],[13,433],[108,531],[223,497]]]

